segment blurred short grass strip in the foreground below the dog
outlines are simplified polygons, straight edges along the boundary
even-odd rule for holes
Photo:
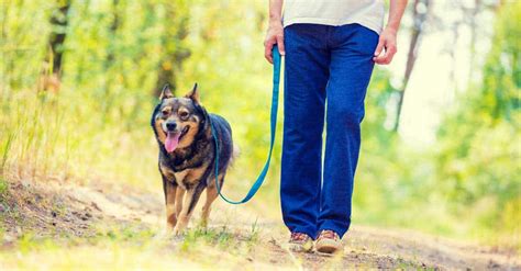
[[[95,270],[118,269],[231,268],[241,267],[258,240],[236,235],[228,227],[193,228],[184,236],[167,236],[140,224],[97,225],[96,235],[36,237],[25,233],[16,249],[0,250],[0,268]],[[260,252],[260,248],[256,248]],[[43,266],[38,266],[43,264]]]

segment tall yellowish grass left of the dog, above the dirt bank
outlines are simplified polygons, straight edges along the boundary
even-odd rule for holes
[[[33,91],[19,91],[11,100],[2,100],[2,170],[59,179],[91,179],[102,172],[109,181],[146,183],[145,176],[154,176],[154,162],[144,161],[154,160],[155,149],[146,133],[146,116],[135,120],[134,125],[141,126],[137,132],[108,117],[106,125],[99,125],[92,118],[100,118],[102,113],[81,110],[91,102],[75,103],[60,93]]]

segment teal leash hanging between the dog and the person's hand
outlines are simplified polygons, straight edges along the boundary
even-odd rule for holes
[[[274,144],[275,144],[275,131],[277,129],[277,110],[278,110],[278,95],[279,95],[279,84],[280,84],[280,53],[278,52],[277,46],[274,46],[271,53],[273,53],[271,55],[274,58],[274,89],[273,89],[273,97],[271,97],[271,117],[270,117],[271,139],[269,143],[268,158],[266,160],[266,163],[264,165],[263,171],[260,171],[260,174],[257,177],[257,180],[253,183],[252,188],[250,189],[250,192],[241,201],[229,200],[226,196],[224,196],[221,193],[221,185],[219,184],[219,180],[218,180],[219,179],[219,140],[215,133],[215,127],[213,126],[213,123],[210,121],[212,137],[213,137],[213,140],[215,142],[215,185],[221,199],[223,199],[225,202],[230,204],[242,204],[242,203],[248,202],[255,195],[255,193],[257,193],[260,185],[263,185],[264,179],[266,179],[266,174],[268,172],[269,161],[271,160],[271,153],[273,153]]]

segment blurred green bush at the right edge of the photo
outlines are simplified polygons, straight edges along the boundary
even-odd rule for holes
[[[520,16],[521,2],[499,11],[483,83],[445,117],[435,157],[436,178],[456,213],[470,211],[485,228],[480,235],[518,246],[519,226],[512,222],[521,219]]]

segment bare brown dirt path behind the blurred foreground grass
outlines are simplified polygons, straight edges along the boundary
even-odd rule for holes
[[[160,194],[106,184],[11,183],[10,196],[3,199],[0,206],[5,232],[0,251],[16,249],[16,240],[26,232],[36,237],[75,236],[81,239],[99,235],[100,228],[112,225],[132,225],[155,233],[160,233],[157,229],[163,227]],[[247,244],[245,252],[230,252],[222,248],[201,250],[210,262],[212,257],[219,259],[224,257],[223,253],[239,258],[234,260],[235,269],[270,266],[278,269],[521,270],[519,255],[512,251],[497,251],[415,232],[357,225],[344,238],[345,249],[342,253],[332,257],[295,253],[285,246],[287,233],[281,223],[256,217],[244,206],[230,206],[222,202],[215,204],[210,228],[213,230],[211,233],[224,233],[225,229],[229,233],[226,238],[235,239],[235,242],[229,242],[232,247]],[[212,241],[221,240],[223,235],[214,236],[218,237]],[[169,237],[154,234],[152,238]],[[170,239],[166,249],[171,251],[182,249],[188,244],[182,237]],[[215,242],[212,241],[210,244]]]

